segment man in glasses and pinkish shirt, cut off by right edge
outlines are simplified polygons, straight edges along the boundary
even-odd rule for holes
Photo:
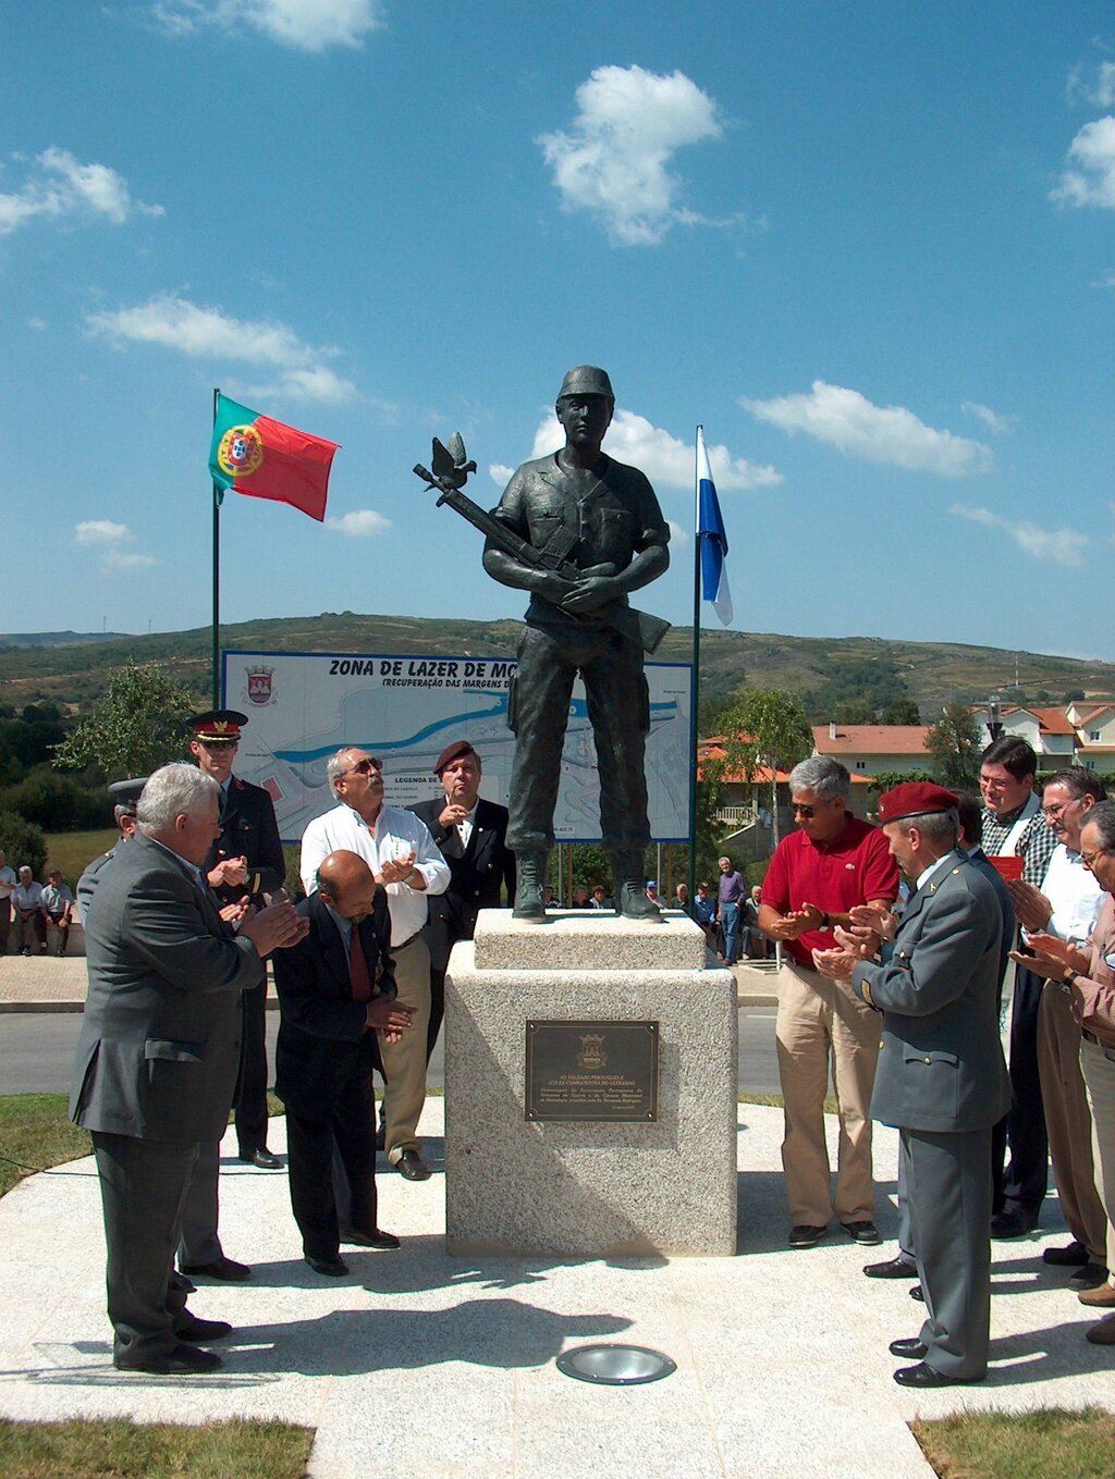
[[[1115,1307],[1115,802],[1097,802],[1081,816],[1081,865],[1105,893],[1096,927],[1084,948],[1053,935],[1031,936],[1029,969],[1065,994],[1081,1029],[1079,1063],[1091,1108],[1091,1148],[1097,1189],[1108,1213],[1108,1278],[1077,1296],[1088,1309]],[[1016,955],[1016,958],[1020,958]],[[1093,1325],[1085,1338],[1115,1346],[1115,1313]]]

